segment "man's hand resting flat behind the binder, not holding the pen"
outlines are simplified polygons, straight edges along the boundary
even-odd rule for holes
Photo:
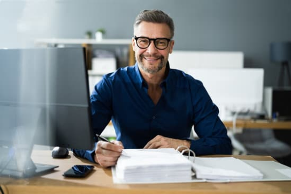
[[[154,139],[151,139],[146,143],[146,146],[144,149],[150,149],[150,148],[174,148],[177,149],[178,146],[184,145],[188,148],[190,148],[190,141],[188,140],[181,140],[181,139],[172,139],[172,138],[166,138],[164,136],[156,136]],[[181,148],[183,150],[183,148]],[[179,151],[181,151],[179,150]]]

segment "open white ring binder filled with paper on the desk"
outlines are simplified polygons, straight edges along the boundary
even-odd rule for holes
[[[178,150],[181,150],[179,152]],[[185,151],[184,151],[185,150]],[[274,161],[239,160],[234,157],[195,157],[184,146],[160,149],[125,149],[112,166],[113,182],[119,184],[245,182],[291,180],[291,168]],[[188,151],[188,156],[182,153]],[[187,159],[190,158],[191,160]],[[192,169],[191,169],[192,168]],[[191,170],[190,170],[191,169]],[[287,175],[279,172],[283,169]],[[193,170],[195,174],[193,174]]]

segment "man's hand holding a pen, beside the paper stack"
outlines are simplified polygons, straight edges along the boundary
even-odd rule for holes
[[[102,167],[116,165],[118,157],[121,155],[123,145],[121,141],[98,141],[95,149],[94,160]]]

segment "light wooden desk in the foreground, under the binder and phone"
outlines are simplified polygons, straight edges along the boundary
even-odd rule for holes
[[[234,156],[250,160],[273,160],[268,156]],[[70,158],[53,159],[50,150],[32,153],[36,163],[59,165],[50,174],[29,179],[0,178],[4,194],[287,194],[291,181],[242,183],[113,184],[110,168],[95,165],[88,177],[64,178],[62,173],[73,165],[90,164],[70,152]]]

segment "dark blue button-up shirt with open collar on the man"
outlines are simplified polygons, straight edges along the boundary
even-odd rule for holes
[[[157,135],[188,139],[194,125],[199,139],[191,140],[190,148],[196,155],[232,154],[227,130],[203,83],[170,69],[169,63],[166,73],[156,105],[147,94],[148,85],[137,64],[103,76],[90,98],[94,133],[101,134],[112,120],[116,139],[124,148],[143,148]],[[74,151],[93,161],[93,151]]]

